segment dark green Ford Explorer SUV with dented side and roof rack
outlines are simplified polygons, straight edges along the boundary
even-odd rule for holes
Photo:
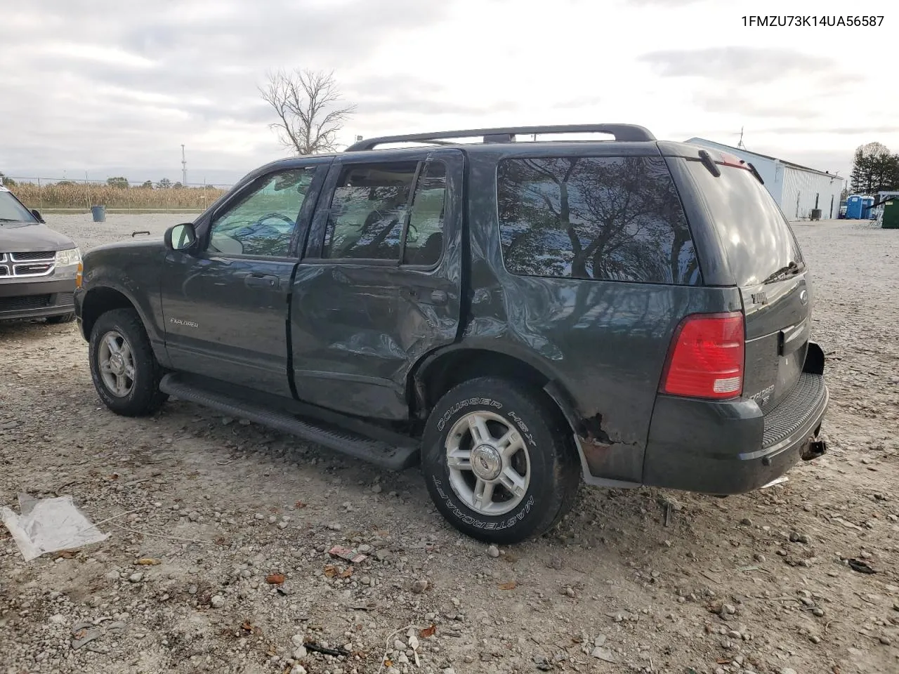
[[[517,140],[585,132],[615,139]],[[176,395],[420,461],[453,526],[498,543],[546,531],[582,481],[747,492],[825,449],[786,218],[751,164],[642,127],[268,164],[165,241],[88,253],[76,309],[114,412]]]

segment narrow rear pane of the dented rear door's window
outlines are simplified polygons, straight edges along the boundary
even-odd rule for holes
[[[446,200],[446,166],[428,162],[415,187],[409,231],[405,235],[404,264],[430,267],[441,259]]]

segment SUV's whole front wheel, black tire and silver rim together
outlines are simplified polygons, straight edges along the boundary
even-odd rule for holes
[[[101,315],[93,324],[89,348],[93,386],[112,412],[146,416],[168,399],[159,390],[162,368],[134,309]]]

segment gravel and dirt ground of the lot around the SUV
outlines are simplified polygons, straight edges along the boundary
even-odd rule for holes
[[[89,249],[182,219],[49,224]],[[111,534],[25,563],[0,530],[4,670],[899,672],[899,233],[796,229],[831,451],[727,499],[585,489],[500,550],[449,528],[414,470],[182,402],[117,417],[74,325],[0,325],[0,503],[71,495]]]

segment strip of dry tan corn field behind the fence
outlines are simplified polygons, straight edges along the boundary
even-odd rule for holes
[[[85,211],[92,206],[123,210],[204,210],[227,191],[223,185],[150,188],[37,179],[16,179],[7,182],[6,187],[28,208]]]

